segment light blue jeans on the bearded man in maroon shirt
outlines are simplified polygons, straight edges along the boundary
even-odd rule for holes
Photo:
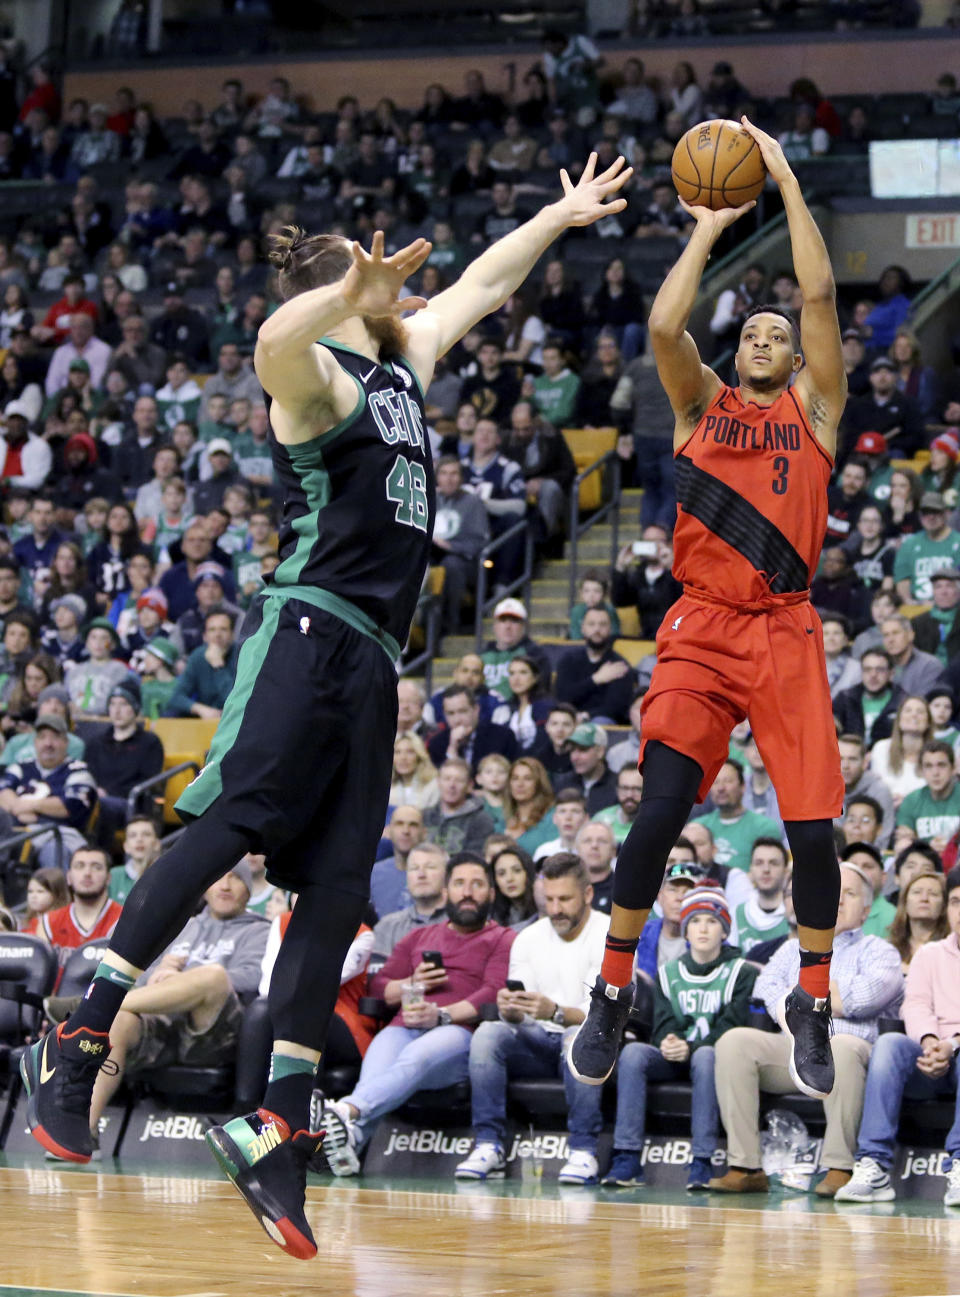
[[[361,1148],[376,1121],[418,1089],[444,1089],[467,1079],[470,1035],[466,1027],[451,1023],[431,1031],[389,1026],[374,1036],[357,1088],[344,1097],[359,1112],[355,1132]]]

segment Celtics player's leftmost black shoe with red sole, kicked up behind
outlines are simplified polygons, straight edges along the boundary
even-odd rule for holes
[[[23,1052],[19,1074],[27,1092],[27,1124],[48,1153],[66,1162],[88,1162],[93,1154],[90,1100],[108,1061],[106,1031],[65,1031],[61,1023]]]

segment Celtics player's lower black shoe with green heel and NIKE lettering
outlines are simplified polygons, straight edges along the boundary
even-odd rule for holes
[[[213,1126],[206,1143],[221,1170],[278,1248],[300,1261],[317,1255],[317,1243],[304,1213],[306,1166],[323,1135],[291,1135],[282,1117],[258,1108]]]

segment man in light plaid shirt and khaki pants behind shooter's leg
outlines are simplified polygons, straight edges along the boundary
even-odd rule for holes
[[[895,1018],[903,1000],[900,957],[880,936],[863,933],[873,904],[873,885],[850,861],[841,865],[837,940],[830,966],[830,1038],[837,1080],[824,1100],[826,1131],[821,1161],[826,1175],[819,1197],[833,1197],[850,1180],[856,1132],[863,1113],[867,1065],[877,1039],[877,1019]],[[777,1021],[777,1005],[797,983],[799,943],[785,942],[754,986],[767,1013]],[[710,1188],[730,1193],[764,1193],[760,1167],[760,1091],[789,1095],[798,1087],[789,1069],[790,1038],[782,1032],[734,1027],[716,1044],[716,1095],[726,1130],[726,1174]]]

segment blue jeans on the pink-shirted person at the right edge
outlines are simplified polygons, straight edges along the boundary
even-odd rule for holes
[[[922,1052],[916,1040],[899,1032],[890,1031],[877,1036],[867,1073],[863,1121],[856,1141],[858,1157],[872,1157],[887,1169],[893,1165],[904,1099],[937,1099],[939,1095],[956,1093],[960,1105],[956,1058],[951,1062],[950,1071],[934,1079],[917,1071],[917,1058]],[[960,1156],[960,1106],[954,1109],[954,1124],[944,1148],[951,1157]]]

